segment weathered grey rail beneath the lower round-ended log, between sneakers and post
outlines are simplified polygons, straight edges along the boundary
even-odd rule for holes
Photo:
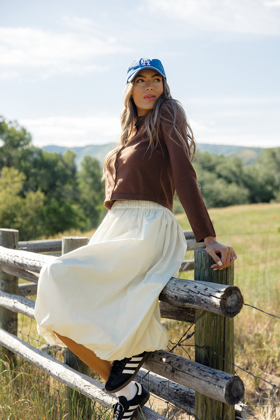
[[[190,388],[156,375],[146,369],[140,369],[135,380],[142,383],[152,394],[160,396],[178,409],[194,414],[194,394]]]

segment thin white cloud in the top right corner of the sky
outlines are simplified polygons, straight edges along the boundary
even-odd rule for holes
[[[148,0],[153,13],[182,21],[186,30],[238,34],[280,34],[280,1],[262,0]]]

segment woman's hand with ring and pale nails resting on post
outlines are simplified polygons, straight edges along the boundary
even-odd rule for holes
[[[213,258],[215,264],[211,265],[213,270],[222,270],[222,268],[229,267],[234,263],[237,256],[232,247],[227,247],[226,245],[219,244],[215,236],[207,236],[204,238],[204,243],[206,245],[206,252]],[[220,253],[221,257],[219,258],[217,254]]]

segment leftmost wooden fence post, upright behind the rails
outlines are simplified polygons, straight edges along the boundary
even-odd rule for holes
[[[18,249],[18,230],[0,229],[0,246],[5,248]],[[7,293],[18,294],[18,277],[4,273],[0,268],[0,290]],[[0,328],[17,336],[18,314],[0,306]],[[10,362],[16,363],[15,354],[10,350],[2,348]]]

